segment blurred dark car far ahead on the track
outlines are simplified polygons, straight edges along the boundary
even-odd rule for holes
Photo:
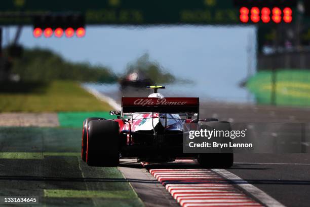
[[[122,90],[128,87],[145,88],[153,84],[153,80],[147,77],[144,72],[138,70],[126,74],[125,77],[120,80]]]

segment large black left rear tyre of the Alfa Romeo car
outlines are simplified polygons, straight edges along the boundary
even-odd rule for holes
[[[89,166],[113,167],[120,163],[119,123],[93,120],[87,131],[86,163]]]

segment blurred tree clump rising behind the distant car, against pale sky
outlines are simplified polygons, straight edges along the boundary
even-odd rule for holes
[[[145,53],[136,61],[127,65],[126,74],[134,71],[142,72],[147,78],[150,78],[157,84],[176,81],[176,78],[172,74],[165,72],[165,69],[158,62],[151,61],[148,53]]]

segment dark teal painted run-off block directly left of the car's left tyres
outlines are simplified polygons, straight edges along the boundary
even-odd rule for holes
[[[1,154],[6,157],[33,157],[35,153],[42,153],[41,156],[81,153],[81,137],[82,123],[80,128],[0,127]]]

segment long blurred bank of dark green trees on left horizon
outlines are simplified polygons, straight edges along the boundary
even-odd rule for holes
[[[12,72],[22,81],[72,80],[112,83],[117,77],[102,66],[72,63],[48,49],[25,49],[21,59],[15,59]]]

